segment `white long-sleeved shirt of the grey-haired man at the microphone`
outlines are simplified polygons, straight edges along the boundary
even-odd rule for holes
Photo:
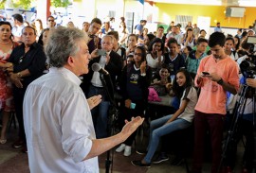
[[[96,139],[81,80],[65,68],[50,68],[24,98],[24,125],[31,173],[96,173],[98,157],[82,161]]]

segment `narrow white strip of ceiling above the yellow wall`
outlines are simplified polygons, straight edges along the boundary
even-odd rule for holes
[[[256,0],[152,0],[155,3],[255,7]]]

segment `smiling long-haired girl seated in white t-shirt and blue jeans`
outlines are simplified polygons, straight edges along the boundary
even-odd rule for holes
[[[132,161],[134,165],[149,167],[162,136],[174,132],[175,130],[187,129],[192,125],[194,107],[197,102],[197,92],[192,86],[192,78],[185,69],[178,70],[175,78],[173,90],[175,95],[181,100],[180,107],[174,114],[164,116],[151,122],[147,155],[140,161]]]

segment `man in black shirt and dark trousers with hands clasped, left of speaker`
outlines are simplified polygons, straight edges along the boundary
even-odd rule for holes
[[[46,54],[42,45],[36,43],[36,32],[33,27],[24,27],[22,30],[22,42],[21,45],[13,49],[9,57],[9,62],[13,64],[9,69],[9,76],[14,85],[14,105],[19,123],[19,139],[12,144],[12,147],[23,147],[22,151],[27,152],[23,121],[23,100],[28,84],[43,75]]]

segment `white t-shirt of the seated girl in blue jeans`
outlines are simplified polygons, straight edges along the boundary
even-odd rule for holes
[[[184,112],[182,112],[178,118],[185,119],[189,122],[192,122],[193,116],[194,116],[194,107],[197,103],[197,92],[193,87],[187,88],[184,90],[183,95],[180,99],[180,105],[182,104],[182,100],[189,99],[189,103],[187,107],[185,108]]]

